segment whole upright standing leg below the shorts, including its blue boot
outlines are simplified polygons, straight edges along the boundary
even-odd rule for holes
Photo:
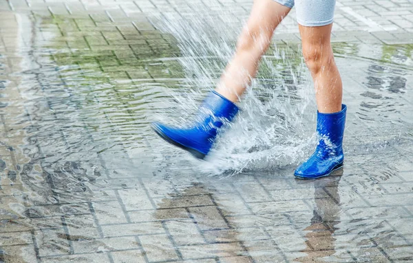
[[[321,4],[321,1],[318,3]],[[304,60],[313,76],[319,111],[319,142],[313,155],[295,170],[294,174],[299,179],[328,176],[343,166],[343,135],[347,107],[341,105],[343,87],[330,45],[331,28],[332,24],[317,27],[299,25]]]

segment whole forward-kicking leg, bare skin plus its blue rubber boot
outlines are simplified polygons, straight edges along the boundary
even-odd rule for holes
[[[246,87],[257,72],[258,62],[271,42],[275,27],[290,8],[273,0],[254,0],[248,23],[237,43],[237,51],[226,66],[215,92],[209,93],[202,104],[202,117],[189,128],[175,128],[156,122],[152,124],[160,137],[169,143],[204,159],[215,142],[218,129],[235,117]]]

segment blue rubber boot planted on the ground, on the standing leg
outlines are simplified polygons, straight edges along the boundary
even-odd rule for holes
[[[343,135],[347,106],[338,113],[317,111],[317,134],[319,143],[311,157],[299,165],[294,175],[299,179],[316,179],[328,176],[343,166]]]

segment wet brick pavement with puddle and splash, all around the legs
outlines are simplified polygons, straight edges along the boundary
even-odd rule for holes
[[[409,1],[337,4],[332,176],[293,179],[315,146],[294,14],[211,160],[150,130],[191,117],[250,6],[0,2],[0,262],[413,262]]]

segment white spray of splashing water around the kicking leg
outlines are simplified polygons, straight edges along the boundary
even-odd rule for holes
[[[235,18],[228,16],[228,21],[231,19]],[[166,122],[182,126],[197,111],[204,93],[215,88],[233,56],[240,27],[218,24],[213,17],[202,15],[185,19],[166,16],[155,23],[173,35],[180,48],[178,60],[187,85],[169,91],[177,105],[169,105],[172,109],[167,117],[172,120]],[[195,166],[207,174],[236,174],[271,170],[301,160],[315,141],[311,134],[316,110],[306,72],[300,54],[293,49],[270,47],[240,103],[240,115],[220,136],[208,162],[196,161]]]

